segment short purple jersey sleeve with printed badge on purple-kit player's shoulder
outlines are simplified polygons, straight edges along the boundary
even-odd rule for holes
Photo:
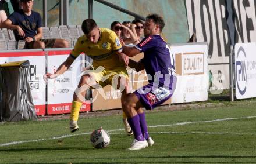
[[[141,52],[145,52],[150,48],[154,48],[157,46],[156,39],[153,36],[144,38],[140,43],[138,43],[135,47],[140,50]]]

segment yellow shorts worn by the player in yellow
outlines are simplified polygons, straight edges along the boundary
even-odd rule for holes
[[[113,80],[116,80],[116,78],[124,77],[126,79],[129,79],[128,72],[125,67],[118,67],[112,70],[90,70],[88,72],[101,87],[104,87],[106,85],[112,85]]]

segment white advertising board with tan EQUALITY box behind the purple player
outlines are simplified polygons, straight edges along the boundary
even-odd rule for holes
[[[171,45],[177,75],[172,103],[206,101],[208,99],[207,43]]]

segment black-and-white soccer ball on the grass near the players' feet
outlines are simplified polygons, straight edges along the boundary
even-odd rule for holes
[[[91,133],[91,145],[95,148],[106,148],[110,143],[110,136],[104,129],[97,129]]]

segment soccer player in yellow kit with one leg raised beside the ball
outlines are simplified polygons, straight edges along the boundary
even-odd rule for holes
[[[47,72],[44,75],[44,78],[53,79],[63,74],[81,53],[93,59],[93,68],[86,70],[84,75],[81,76],[79,85],[73,95],[70,132],[79,129],[77,120],[87,89],[91,87],[99,89],[115,83],[116,85],[113,87],[120,89],[122,93],[121,102],[123,102],[128,92],[129,83],[126,70],[129,57],[122,53],[122,45],[115,32],[107,28],[99,28],[93,19],[84,20],[81,26],[85,35],[78,39],[70,56],[59,66],[55,74]]]

